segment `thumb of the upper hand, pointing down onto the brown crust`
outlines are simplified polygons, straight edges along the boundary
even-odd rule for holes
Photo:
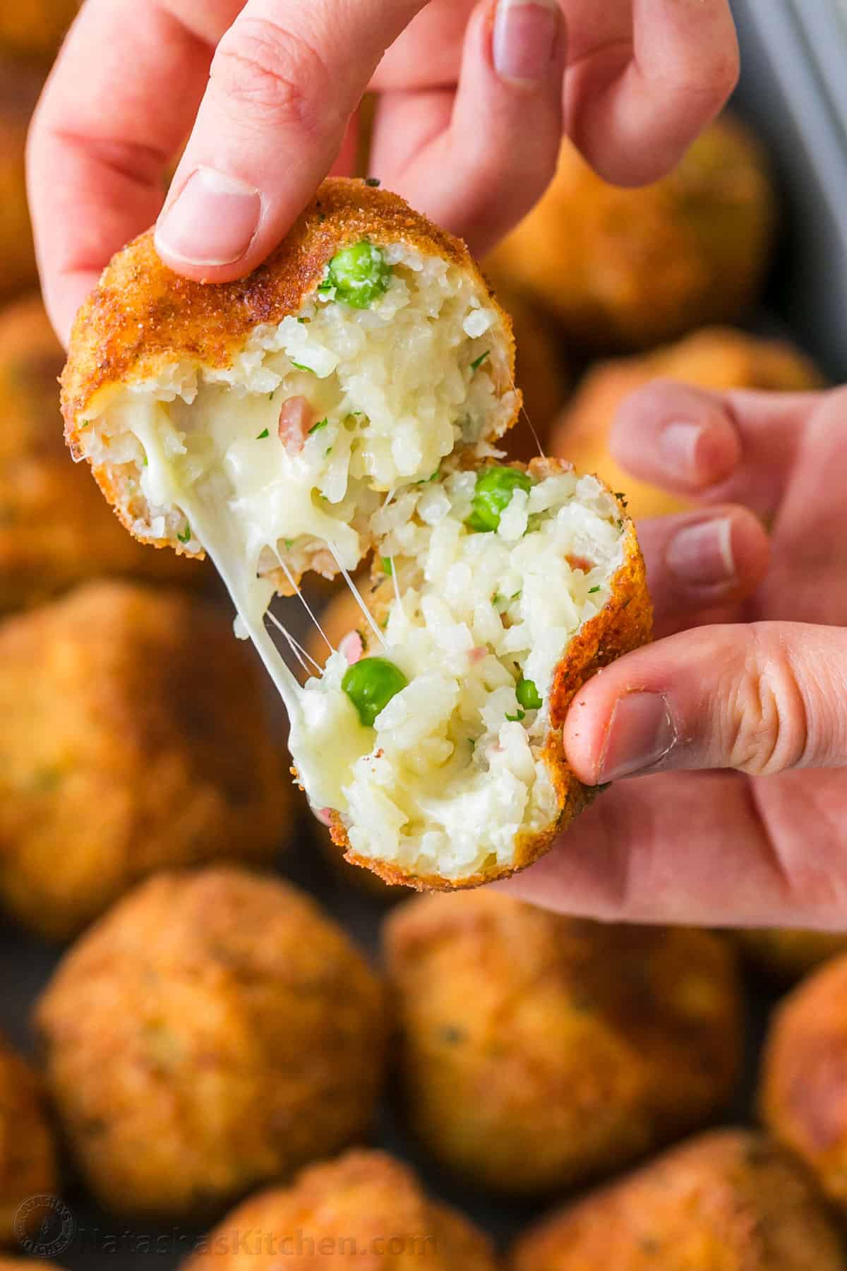
[[[248,0],[223,34],[156,228],[189,278],[249,273],[279,243],[342,147],[389,44],[425,0]]]

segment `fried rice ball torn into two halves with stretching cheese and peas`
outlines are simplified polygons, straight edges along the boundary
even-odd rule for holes
[[[71,447],[133,534],[212,555],[312,808],[389,881],[469,886],[546,850],[592,797],[564,759],[570,698],[650,632],[620,500],[494,449],[513,352],[462,244],[343,180],[243,282],[177,278],[138,239],[74,332]],[[367,647],[301,686],[274,594],[370,557]]]

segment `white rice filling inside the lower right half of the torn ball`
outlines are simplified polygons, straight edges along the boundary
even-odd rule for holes
[[[292,750],[300,770],[319,774],[312,805],[340,812],[356,853],[447,880],[508,867],[517,835],[555,822],[541,759],[554,671],[624,561],[620,508],[596,478],[516,491],[497,533],[465,525],[475,479],[410,491],[376,519],[399,596],[385,647],[368,637],[367,655],[409,683],[364,727],[334,653],[306,683],[307,727]],[[540,709],[518,703],[522,676]]]

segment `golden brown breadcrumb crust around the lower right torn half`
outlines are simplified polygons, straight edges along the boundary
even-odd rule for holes
[[[536,480],[544,480],[545,477],[571,469],[571,465],[561,459],[533,459],[526,468],[523,464],[513,466],[524,469]],[[505,878],[531,866],[550,850],[557,835],[566,830],[574,817],[593,802],[597,788],[583,785],[565,758],[563,724],[568,707],[585,680],[624,653],[646,644],[653,633],[653,605],[635,525],[626,512],[625,503],[620,498],[617,502],[621,510],[621,522],[626,531],[624,562],[612,580],[612,594],[608,601],[599,614],[580,628],[565,649],[556,666],[550,693],[550,730],[541,758],[547,765],[559,797],[559,817],[555,824],[538,834],[522,835],[517,841],[514,860],[510,866],[491,866],[489,869],[467,874],[465,878],[444,878],[441,874],[411,874],[386,860],[359,855],[349,845],[340,816],[338,812],[333,812],[330,827],[333,841],[344,850],[345,859],[352,864],[372,869],[387,883],[400,883],[405,887],[414,887],[417,891],[455,891],[460,887],[480,887],[483,883],[493,882],[495,878]]]

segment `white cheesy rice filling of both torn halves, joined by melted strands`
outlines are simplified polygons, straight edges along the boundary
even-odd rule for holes
[[[338,811],[364,858],[460,880],[508,867],[518,835],[556,820],[550,685],[610,599],[625,531],[616,501],[574,474],[514,491],[495,533],[467,529],[475,474],[444,460],[495,454],[486,438],[514,411],[504,332],[465,271],[382,250],[392,275],[370,309],[315,292],[225,370],[171,365],[105,391],[81,450],[128,491],[140,538],[179,536],[215,561],[291,716],[312,807]],[[293,447],[292,399],[319,425]],[[342,689],[342,653],[300,688],[264,615],[281,569],[352,571],[375,541],[397,599],[368,655],[408,685],[371,728]],[[522,676],[540,709],[518,704]]]

